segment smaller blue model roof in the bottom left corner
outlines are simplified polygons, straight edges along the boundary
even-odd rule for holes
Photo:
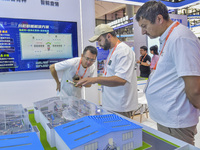
[[[2,150],[44,150],[35,132],[0,136]]]

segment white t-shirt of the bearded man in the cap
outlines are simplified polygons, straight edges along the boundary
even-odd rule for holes
[[[112,53],[110,50],[108,58]],[[125,43],[117,45],[110,65],[107,65],[106,77],[118,76],[125,79],[125,85],[117,87],[103,86],[102,105],[107,110],[117,112],[128,112],[135,110],[138,106],[137,77],[135,67],[135,53]]]

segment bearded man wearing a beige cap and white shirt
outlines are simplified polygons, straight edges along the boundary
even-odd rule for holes
[[[138,106],[135,53],[116,37],[113,28],[107,24],[98,25],[89,41],[98,41],[100,47],[109,50],[104,76],[82,79],[77,86],[101,84],[103,107],[130,118]]]

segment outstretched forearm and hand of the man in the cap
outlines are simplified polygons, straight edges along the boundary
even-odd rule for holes
[[[115,87],[115,86],[124,85],[126,83],[126,80],[124,80],[118,76],[93,77],[93,78],[88,77],[88,78],[79,80],[79,82],[77,83],[77,86],[79,86],[79,85],[87,86],[87,85],[95,84],[95,83],[109,86],[109,87]]]

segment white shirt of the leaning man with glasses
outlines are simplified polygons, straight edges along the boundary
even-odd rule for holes
[[[80,59],[81,59],[80,57],[77,57],[77,58],[68,59],[62,62],[58,62],[55,64],[56,71],[63,71],[63,75],[61,78],[61,91],[60,91],[61,97],[75,96],[78,98],[83,98],[82,97],[83,88],[75,87],[71,83],[66,82],[66,80],[73,81],[73,77],[76,74]],[[78,75],[82,76],[85,72],[85,69],[86,68],[83,68],[83,66],[81,65]],[[94,70],[95,70],[95,66],[93,64],[87,69],[83,78],[92,77],[94,74]]]

